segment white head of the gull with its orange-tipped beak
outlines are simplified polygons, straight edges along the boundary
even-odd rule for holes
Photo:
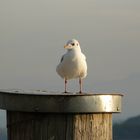
[[[80,49],[80,44],[76,39],[72,39],[67,42],[64,48],[67,50]]]

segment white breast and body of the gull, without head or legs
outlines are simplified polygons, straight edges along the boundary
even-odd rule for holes
[[[81,51],[68,51],[63,55],[56,71],[62,78],[66,79],[86,77],[87,63],[85,55]]]

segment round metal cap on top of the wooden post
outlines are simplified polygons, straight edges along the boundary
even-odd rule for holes
[[[0,90],[0,108],[46,113],[119,113],[122,94],[60,93],[44,90]]]

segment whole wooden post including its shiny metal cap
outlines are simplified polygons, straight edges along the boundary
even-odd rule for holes
[[[0,91],[8,140],[112,140],[121,94]]]

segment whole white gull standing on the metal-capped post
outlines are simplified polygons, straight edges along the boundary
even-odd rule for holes
[[[67,52],[62,56],[56,72],[64,79],[64,93],[67,93],[67,81],[79,79],[79,93],[82,93],[82,79],[87,76],[87,62],[76,39],[69,40],[64,46]]]

